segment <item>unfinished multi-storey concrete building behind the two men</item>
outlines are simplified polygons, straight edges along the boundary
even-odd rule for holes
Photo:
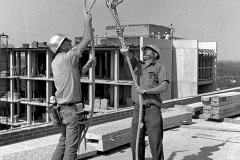
[[[144,45],[156,44],[161,50],[159,63],[165,66],[170,80],[168,91],[161,95],[163,108],[197,102],[200,95],[213,94],[216,90],[217,43],[165,39],[164,34],[170,31],[168,27],[153,24],[124,26],[125,40],[137,58],[142,59]],[[76,36],[75,43],[80,41],[81,37]],[[58,133],[46,113],[50,97],[56,91],[51,69],[54,55],[46,43],[34,41],[22,48],[5,45],[0,51],[0,135],[8,137],[15,133],[20,136],[27,128],[28,136],[15,138],[19,142]],[[86,63],[89,54],[90,46],[84,51],[80,65]],[[114,26],[106,27],[105,36],[95,37],[95,56],[95,75],[90,69],[81,79],[86,110],[94,106],[92,125],[131,117],[132,78],[120,53]],[[92,92],[93,76],[95,93]],[[91,104],[93,94],[96,97],[94,105]],[[169,128],[173,124],[166,126]],[[44,132],[37,133],[39,130]],[[8,138],[0,139],[0,146],[15,143]]]

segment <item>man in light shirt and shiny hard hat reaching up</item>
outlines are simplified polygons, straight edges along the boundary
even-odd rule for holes
[[[81,135],[84,125],[79,125],[79,111],[84,106],[81,99],[80,78],[84,75],[95,59],[89,59],[88,62],[78,69],[79,58],[82,52],[91,42],[92,16],[84,15],[84,33],[82,41],[76,46],[72,46],[69,40],[63,34],[52,36],[48,42],[50,50],[55,58],[52,61],[52,71],[54,84],[56,87],[56,102],[59,108],[59,117],[61,119],[61,136],[59,143],[52,156],[52,160],[76,160],[79,143],[79,134]]]

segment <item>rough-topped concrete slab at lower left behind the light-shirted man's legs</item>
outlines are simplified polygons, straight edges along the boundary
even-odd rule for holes
[[[0,147],[0,160],[51,160],[60,134],[28,140]],[[97,150],[84,143],[80,145],[78,158],[82,159],[97,154]]]

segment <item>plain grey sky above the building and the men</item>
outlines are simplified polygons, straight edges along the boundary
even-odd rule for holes
[[[83,0],[0,0],[0,33],[15,47],[46,42],[55,33],[73,39],[83,33]],[[92,0],[87,1],[87,6]],[[91,10],[94,34],[115,25],[105,0]],[[218,60],[240,61],[239,0],[123,0],[121,24],[155,24],[175,28],[174,36],[217,42]]]

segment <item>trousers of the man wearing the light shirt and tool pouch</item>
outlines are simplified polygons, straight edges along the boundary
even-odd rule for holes
[[[60,106],[62,118],[61,136],[52,156],[52,160],[76,160],[78,135],[82,134],[84,125],[77,123],[77,107]]]

